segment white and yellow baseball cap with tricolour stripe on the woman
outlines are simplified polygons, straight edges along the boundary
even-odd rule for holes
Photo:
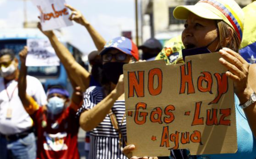
[[[176,19],[187,19],[192,12],[205,19],[223,20],[230,25],[242,40],[244,14],[233,0],[201,0],[194,6],[178,6],[173,10]]]

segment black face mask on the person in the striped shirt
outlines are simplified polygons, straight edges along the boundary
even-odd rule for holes
[[[108,62],[103,64],[103,71],[106,78],[113,84],[118,83],[119,76],[123,74],[123,65],[127,64],[124,62]]]

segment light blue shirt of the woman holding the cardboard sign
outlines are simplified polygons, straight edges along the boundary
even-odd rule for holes
[[[256,140],[253,136],[252,130],[250,130],[246,114],[243,109],[239,107],[239,100],[235,96],[236,107],[236,126],[237,126],[237,145],[238,150],[236,153],[219,154],[219,155],[200,155],[199,159],[255,159],[256,158]],[[256,124],[256,123],[255,123]]]

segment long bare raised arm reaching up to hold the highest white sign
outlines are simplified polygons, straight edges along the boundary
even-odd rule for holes
[[[58,58],[64,65],[67,74],[69,74],[70,78],[74,80],[76,85],[81,87],[82,91],[85,91],[90,84],[90,73],[84,69],[77,61],[75,61],[75,58],[68,51],[68,49],[61,42],[59,42],[53,31],[42,31],[40,23],[38,24],[38,28],[50,40],[51,45],[54,48]]]

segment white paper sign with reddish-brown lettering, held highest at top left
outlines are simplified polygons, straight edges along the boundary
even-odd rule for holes
[[[42,30],[59,29],[73,25],[64,0],[32,0],[41,13]]]

